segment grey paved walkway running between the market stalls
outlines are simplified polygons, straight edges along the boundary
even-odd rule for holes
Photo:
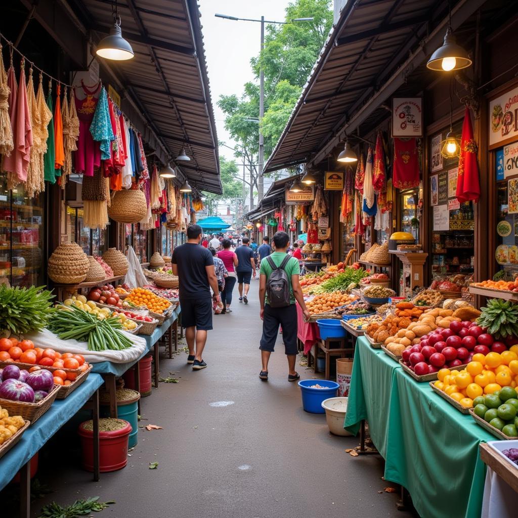
[[[87,496],[117,501],[99,518],[410,516],[396,511],[395,494],[383,492],[391,484],[381,480],[379,456],[351,457],[344,450],[356,438],[330,435],[325,416],[302,410],[297,384],[287,381],[281,340],[270,380],[258,378],[257,290],[252,280],[245,306],[236,286],[234,312],[214,316],[207,369],[193,372],[183,352],[162,360],[162,376],[179,383],[161,383],[142,400],[147,421],[140,424],[164,429],[139,430],[128,466],[93,483],[90,473],[67,466],[68,459],[59,462],[65,466],[39,475],[55,493],[35,502],[34,516],[42,502]],[[312,376],[298,362],[297,369],[302,378]],[[158,468],[150,470],[150,462]]]

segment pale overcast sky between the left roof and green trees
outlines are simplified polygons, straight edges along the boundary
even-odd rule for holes
[[[225,20],[214,14],[254,19],[264,16],[266,20],[283,21],[289,0],[199,0],[199,4],[218,139],[234,146],[225,131],[224,114],[217,101],[221,94],[241,96],[243,84],[253,79],[250,58],[260,51],[261,24]],[[233,158],[233,152],[225,147],[220,147],[220,155]]]

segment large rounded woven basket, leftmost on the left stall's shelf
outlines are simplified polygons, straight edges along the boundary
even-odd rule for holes
[[[49,257],[49,277],[59,284],[83,282],[90,269],[87,254],[76,243],[60,244]]]

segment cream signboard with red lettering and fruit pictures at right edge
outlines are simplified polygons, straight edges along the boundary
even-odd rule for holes
[[[489,145],[518,137],[518,87],[489,103]]]

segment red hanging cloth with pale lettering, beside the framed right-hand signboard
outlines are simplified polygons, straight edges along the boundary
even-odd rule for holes
[[[462,124],[461,155],[458,158],[457,199],[459,202],[478,202],[480,197],[477,142],[473,138],[473,126],[469,108],[466,106]]]

